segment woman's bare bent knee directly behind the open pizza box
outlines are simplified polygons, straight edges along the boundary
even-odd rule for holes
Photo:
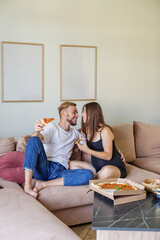
[[[107,165],[104,166],[99,172],[97,172],[96,178],[104,179],[104,178],[119,178],[121,176],[121,172],[119,168]]]

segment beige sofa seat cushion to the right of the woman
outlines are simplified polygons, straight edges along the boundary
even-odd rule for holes
[[[130,163],[126,163],[126,166],[127,166],[127,177],[126,178],[128,178],[134,182],[142,184],[143,180],[147,179],[147,178],[160,179],[159,174],[138,168],[136,166],[133,166]]]

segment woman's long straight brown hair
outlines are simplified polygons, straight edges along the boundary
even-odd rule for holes
[[[82,112],[86,109],[86,123],[81,122],[82,132],[86,135],[89,133],[89,141],[92,141],[94,133],[98,132],[100,128],[103,128],[106,125],[103,117],[102,108],[97,102],[90,102],[83,106]],[[110,128],[110,126],[108,126]]]

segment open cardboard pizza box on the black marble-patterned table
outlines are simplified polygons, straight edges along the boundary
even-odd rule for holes
[[[103,183],[116,183],[116,184],[125,184],[132,186],[133,190],[121,190],[118,187],[115,189],[103,189],[101,184]],[[99,185],[97,185],[99,184]],[[138,183],[135,183],[129,179],[124,178],[108,178],[108,179],[99,179],[99,180],[90,180],[89,182],[90,189],[95,192],[104,195],[114,201],[114,205],[134,202],[146,198],[146,191],[144,186]]]

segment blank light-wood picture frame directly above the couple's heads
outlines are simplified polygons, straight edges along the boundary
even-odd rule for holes
[[[97,47],[60,45],[61,101],[96,100]]]

